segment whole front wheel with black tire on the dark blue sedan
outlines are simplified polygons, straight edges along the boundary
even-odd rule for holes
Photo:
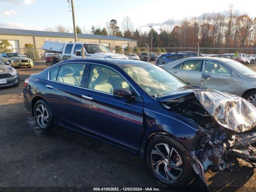
[[[169,158],[167,158],[167,146],[169,148]],[[164,158],[158,151],[162,152]],[[169,137],[157,137],[150,140],[146,159],[154,176],[167,186],[187,186],[194,179],[194,170],[190,162],[188,162],[182,150]]]

